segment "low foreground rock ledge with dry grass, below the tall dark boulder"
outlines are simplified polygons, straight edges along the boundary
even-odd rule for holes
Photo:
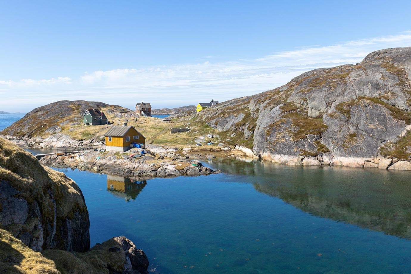
[[[0,228],[0,273],[120,273],[147,274],[145,253],[125,237],[96,244],[85,253],[46,249],[35,252]]]

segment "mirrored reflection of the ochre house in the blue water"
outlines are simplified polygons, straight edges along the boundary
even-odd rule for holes
[[[132,181],[129,178],[107,175],[107,191],[114,196],[124,198],[126,202],[136,200],[147,181]]]

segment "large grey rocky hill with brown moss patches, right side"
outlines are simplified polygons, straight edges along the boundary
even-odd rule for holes
[[[376,167],[385,157],[388,167],[411,160],[410,75],[411,47],[375,51],[191,119],[275,162]]]

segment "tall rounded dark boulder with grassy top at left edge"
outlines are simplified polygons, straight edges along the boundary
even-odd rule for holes
[[[0,224],[35,251],[87,251],[90,222],[77,184],[0,138]]]

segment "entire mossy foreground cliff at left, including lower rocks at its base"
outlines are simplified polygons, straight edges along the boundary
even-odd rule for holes
[[[89,250],[89,226],[73,180],[0,138],[0,273],[148,273],[125,237]]]

